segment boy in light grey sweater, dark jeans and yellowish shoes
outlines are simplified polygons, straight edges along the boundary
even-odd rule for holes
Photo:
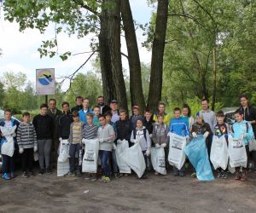
[[[115,134],[113,127],[107,123],[104,115],[99,116],[101,126],[98,129],[98,139],[100,141],[100,158],[103,168],[103,176],[101,181],[108,183],[110,181],[110,174],[108,170],[109,155],[113,149],[113,141]]]

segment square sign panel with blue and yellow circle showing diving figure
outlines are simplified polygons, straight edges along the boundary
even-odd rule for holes
[[[55,95],[55,69],[37,69],[37,95]]]

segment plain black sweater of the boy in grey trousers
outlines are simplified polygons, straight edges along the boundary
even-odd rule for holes
[[[34,127],[36,129],[38,140],[52,139],[55,130],[54,119],[48,114],[43,116],[36,115],[33,118]]]

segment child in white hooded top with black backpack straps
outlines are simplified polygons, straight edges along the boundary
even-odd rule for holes
[[[142,151],[143,151],[143,157],[145,160],[145,164],[147,165],[148,156],[150,154],[151,141],[150,141],[150,136],[148,134],[148,130],[143,126],[142,118],[137,119],[137,127],[136,127],[136,129],[132,130],[130,141],[132,143],[140,144]],[[146,174],[146,170],[145,170],[142,178],[148,178],[148,176]]]

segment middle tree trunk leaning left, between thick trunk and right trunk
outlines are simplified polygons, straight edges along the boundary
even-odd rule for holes
[[[141,62],[129,0],[121,0],[121,15],[124,24],[125,41],[130,68],[131,106],[136,104],[141,107],[141,112],[143,112],[146,106],[143,95]]]

